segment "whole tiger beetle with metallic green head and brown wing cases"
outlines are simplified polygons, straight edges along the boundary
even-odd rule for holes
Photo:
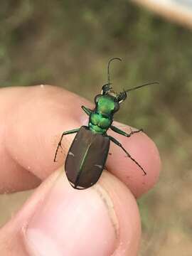
[[[109,60],[107,65],[108,82],[102,86],[101,94],[95,96],[94,110],[82,106],[82,110],[89,116],[88,125],[63,132],[55,151],[54,161],[56,161],[58,149],[62,147],[61,142],[63,137],[67,134],[77,133],[65,160],[65,173],[68,177],[68,181],[71,186],[76,189],[90,188],[90,186],[97,183],[105,167],[110,149],[110,141],[119,146],[127,157],[132,159],[132,161],[139,166],[143,175],[146,175],[146,171],[144,171],[143,167],[132,158],[117,139],[107,134],[107,130],[112,129],[112,131],[125,137],[131,137],[137,132],[142,132],[142,129],[138,129],[137,131],[127,133],[115,127],[112,125],[113,115],[119,110],[120,104],[127,98],[127,92],[159,82],[148,82],[144,85],[123,90],[122,92],[114,92],[114,90],[112,90],[112,83],[110,82],[110,63],[112,60],[121,59],[111,58]]]

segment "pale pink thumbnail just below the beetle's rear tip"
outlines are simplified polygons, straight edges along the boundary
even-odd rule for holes
[[[78,191],[58,178],[28,223],[32,256],[110,256],[117,247],[117,218],[100,185]]]

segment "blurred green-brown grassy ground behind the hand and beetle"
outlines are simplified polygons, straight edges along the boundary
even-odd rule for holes
[[[180,17],[173,20],[168,12],[161,9],[163,16],[158,16],[158,7],[152,12],[154,7],[145,9],[139,2],[146,5],[1,0],[0,85],[59,85],[92,101],[107,81],[112,57],[123,59],[111,67],[115,90],[159,81],[130,93],[116,114],[117,121],[142,127],[154,139],[163,163],[159,183],[138,201],[143,228],[139,256],[190,256],[191,21],[179,15],[181,0],[172,0],[179,2]],[[192,1],[183,4],[192,9]],[[1,225],[30,193],[0,197]]]

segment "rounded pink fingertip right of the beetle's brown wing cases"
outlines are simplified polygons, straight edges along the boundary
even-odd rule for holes
[[[118,122],[114,124],[117,127],[122,126],[122,124]],[[123,130],[124,132],[130,133],[130,127],[128,126],[124,126]],[[110,132],[110,134],[112,137],[115,137],[129,152],[132,158],[142,166],[144,171],[146,171],[146,175],[144,175],[142,169],[135,164],[132,159],[129,159],[124,151],[114,143],[111,143],[111,154],[109,154],[107,159],[107,169],[123,181],[132,193],[134,193],[134,196],[139,197],[142,193],[149,191],[159,178],[161,160],[156,145],[144,132],[133,134],[128,138],[114,132]]]

